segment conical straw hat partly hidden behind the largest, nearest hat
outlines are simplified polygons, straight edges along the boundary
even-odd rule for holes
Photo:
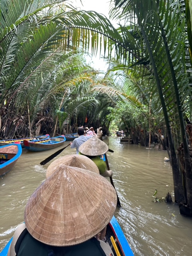
[[[65,164],[67,166],[73,166],[82,168],[85,170],[89,170],[91,172],[95,172],[99,174],[99,169],[96,164],[88,157],[83,155],[66,155],[58,158],[53,161],[47,168],[46,178],[48,178],[53,172],[58,169],[60,164]]]

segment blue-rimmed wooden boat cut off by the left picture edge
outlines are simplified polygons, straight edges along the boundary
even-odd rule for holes
[[[7,144],[0,147],[0,177],[13,168],[21,153],[20,144]]]

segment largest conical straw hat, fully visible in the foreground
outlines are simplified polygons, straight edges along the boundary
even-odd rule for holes
[[[80,244],[110,222],[116,202],[116,191],[104,177],[60,164],[30,196],[24,221],[28,232],[44,244]]]

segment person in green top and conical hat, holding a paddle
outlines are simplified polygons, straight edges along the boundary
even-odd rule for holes
[[[112,170],[106,170],[106,164],[101,156],[108,151],[108,146],[105,142],[92,136],[89,140],[84,142],[79,147],[79,154],[90,158],[98,167],[99,172],[104,177],[112,177]]]

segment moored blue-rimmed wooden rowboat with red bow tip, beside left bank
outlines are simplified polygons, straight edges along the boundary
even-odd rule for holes
[[[39,152],[62,146],[66,138],[64,135],[47,138],[45,140],[24,140],[24,147],[29,151]]]

